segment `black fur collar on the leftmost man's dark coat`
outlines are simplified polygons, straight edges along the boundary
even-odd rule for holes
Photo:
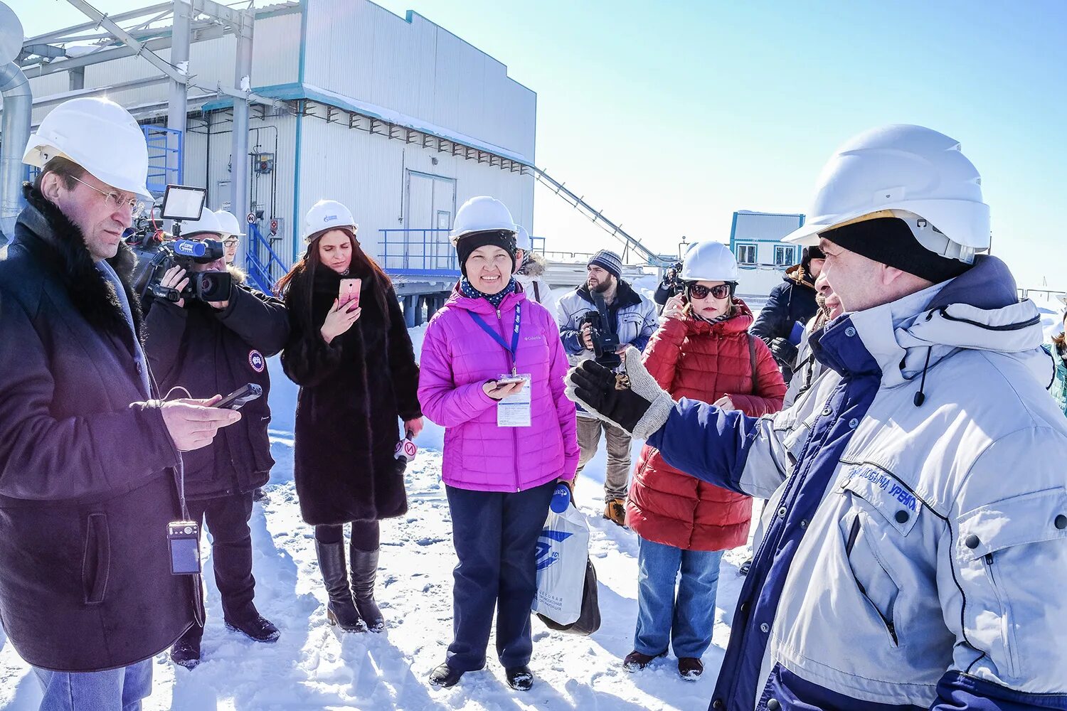
[[[18,217],[25,228],[19,241],[55,276],[70,296],[78,313],[90,325],[128,342],[129,326],[118,295],[111,281],[96,269],[85,247],[81,229],[32,184],[23,183],[22,194],[26,196],[27,207]],[[138,338],[143,343],[141,303],[130,288],[137,255],[125,242],[120,242],[117,254],[108,263],[123,284]]]

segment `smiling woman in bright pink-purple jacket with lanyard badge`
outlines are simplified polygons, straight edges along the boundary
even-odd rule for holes
[[[578,463],[567,354],[552,314],[512,276],[508,208],[471,198],[451,239],[463,278],[426,329],[418,385],[427,417],[445,427],[442,479],[459,558],[453,637],[430,683],[452,686],[485,665],[495,608],[497,658],[511,688],[526,691],[538,537],[556,482],[573,480]]]

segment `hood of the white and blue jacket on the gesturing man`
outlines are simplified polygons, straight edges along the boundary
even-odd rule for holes
[[[957,351],[987,351],[1022,361],[1048,383],[1051,359],[1040,345],[1041,317],[1031,301],[1019,302],[1015,279],[1001,260],[976,258],[960,276],[850,314],[886,385],[931,371]]]

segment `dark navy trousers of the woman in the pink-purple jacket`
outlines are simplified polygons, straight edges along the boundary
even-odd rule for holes
[[[537,594],[537,542],[556,482],[517,492],[446,486],[452,544],[452,632],[447,662],[461,672],[485,665],[496,609],[496,655],[505,668],[530,661],[530,605]]]

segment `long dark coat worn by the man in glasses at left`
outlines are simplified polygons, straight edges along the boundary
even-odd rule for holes
[[[165,535],[178,453],[80,230],[27,199],[0,261],[0,623],[34,666],[126,666],[193,620]],[[132,253],[109,261],[140,323]]]

